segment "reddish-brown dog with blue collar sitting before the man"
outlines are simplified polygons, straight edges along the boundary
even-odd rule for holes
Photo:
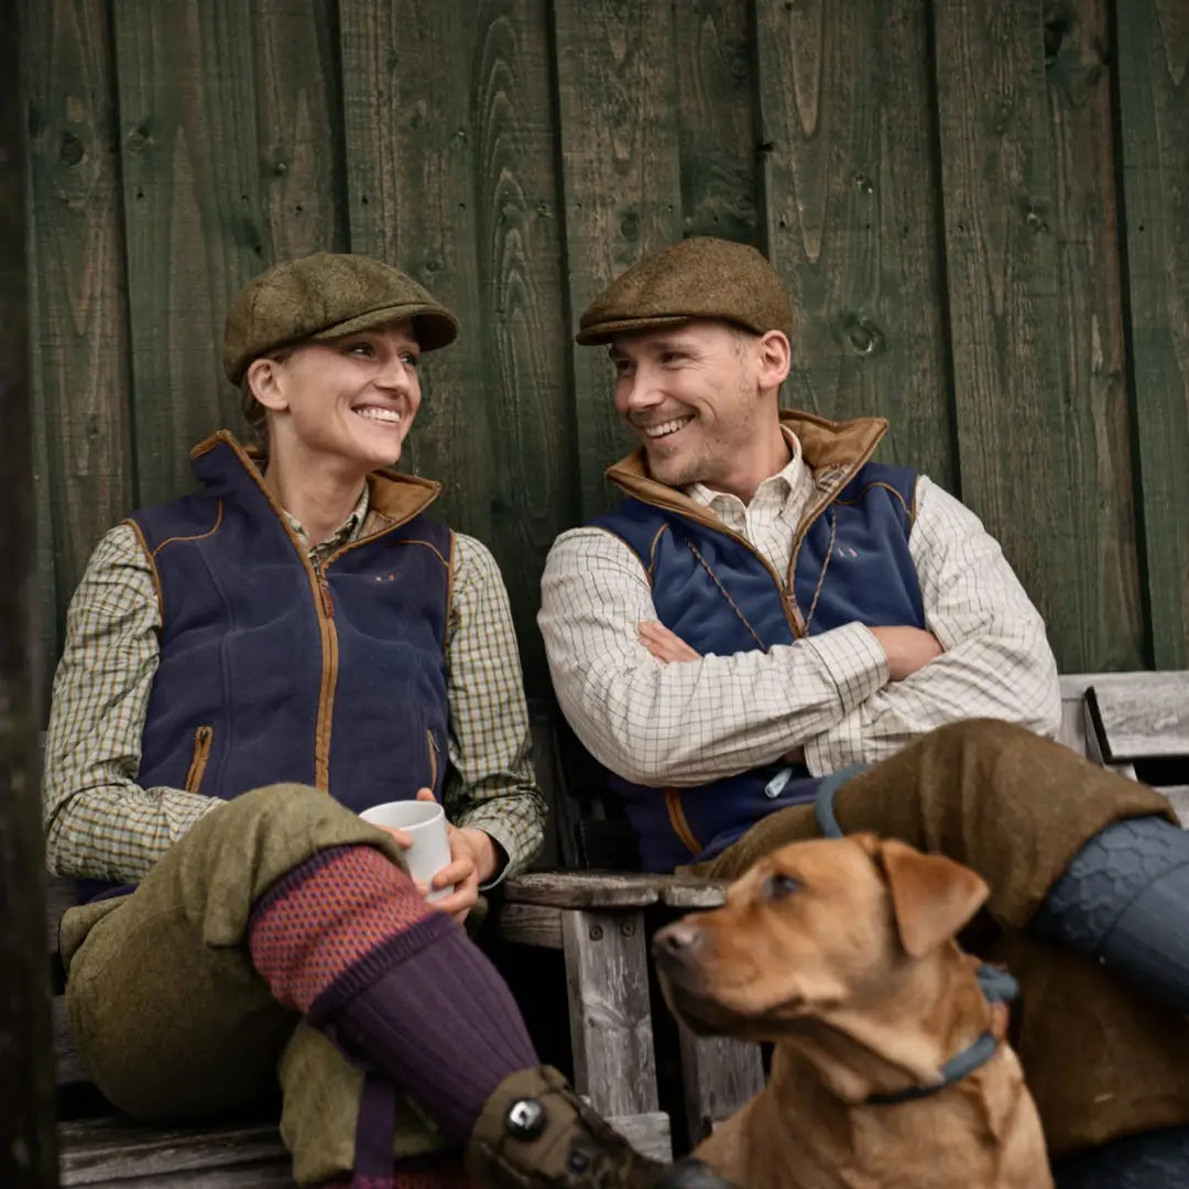
[[[1000,1043],[926,1096],[990,1032],[977,960],[954,936],[987,898],[969,868],[894,841],[799,842],[712,912],[658,932],[669,1006],[691,1028],[775,1044],[772,1075],[696,1155],[747,1189],[1050,1189],[1032,1096]]]

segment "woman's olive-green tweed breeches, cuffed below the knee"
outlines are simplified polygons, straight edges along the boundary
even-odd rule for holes
[[[201,818],[131,894],[63,916],[70,1032],[115,1106],[176,1124],[241,1109],[279,1082],[297,1183],[350,1172],[364,1069],[272,998],[246,935],[252,905],[281,876],[353,844],[403,866],[389,835],[326,793],[271,785]],[[397,1156],[446,1146],[403,1095],[395,1134]]]

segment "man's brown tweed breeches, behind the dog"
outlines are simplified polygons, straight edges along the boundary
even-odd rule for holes
[[[1126,818],[1175,820],[1163,797],[1059,743],[975,719],[933,731],[854,776],[835,810],[848,832],[901,838],[987,881],[994,927],[983,921],[967,944],[1020,982],[1012,1040],[1055,1157],[1189,1124],[1189,1019],[1094,960],[1027,931],[1088,839]],[[734,877],[761,855],[817,832],[812,806],[795,806],[691,870]]]

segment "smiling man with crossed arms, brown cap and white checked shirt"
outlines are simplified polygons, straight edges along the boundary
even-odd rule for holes
[[[870,461],[882,421],[779,409],[792,334],[768,262],[713,239],[644,258],[583,314],[640,447],[608,472],[619,508],[546,566],[564,712],[652,870],[734,876],[816,832],[822,778],[874,765],[841,785],[843,828],[944,850],[993,889],[1053,1152],[1189,1122],[1189,842],[1162,798],[1039,737],[1052,654],[977,517]],[[1189,1131],[1145,1153],[1170,1145],[1183,1177]]]

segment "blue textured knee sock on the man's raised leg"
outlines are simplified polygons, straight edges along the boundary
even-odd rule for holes
[[[1189,832],[1159,817],[1112,823],[1074,856],[1028,927],[1189,1013]]]

